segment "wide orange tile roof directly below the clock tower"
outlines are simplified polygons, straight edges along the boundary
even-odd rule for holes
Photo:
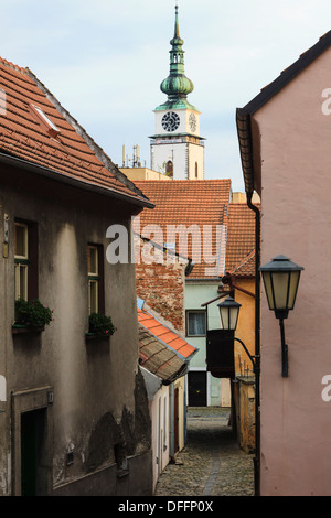
[[[177,235],[177,252],[184,257],[189,257],[194,262],[194,268],[190,274],[190,279],[205,279],[222,277],[224,273],[224,258],[225,258],[225,238],[227,226],[227,204],[229,201],[231,180],[174,180],[171,182],[160,182],[158,180],[145,180],[135,182],[145,195],[156,205],[153,211],[143,209],[139,214],[140,218],[140,234],[143,237],[143,228],[147,225],[158,225],[162,228],[163,241],[169,242],[169,234],[167,226],[183,225],[186,229],[191,225],[195,225],[200,229],[201,241],[199,240],[199,233],[195,240],[188,239],[188,251],[179,246],[179,236]],[[221,249],[216,253],[216,237],[215,231],[212,235],[211,253],[217,257],[220,268],[217,274],[206,273],[206,268],[215,266],[207,263],[206,255],[203,251],[206,248],[202,247],[203,227],[212,226],[213,230],[216,226],[223,227],[223,237]],[[135,228],[137,231],[138,229]],[[147,236],[150,237],[150,236]],[[153,238],[157,240],[156,238]],[[163,242],[163,244],[164,244]],[[162,245],[163,245],[162,244]],[[196,244],[197,249],[201,247],[201,260],[196,260],[194,255],[193,245]]]

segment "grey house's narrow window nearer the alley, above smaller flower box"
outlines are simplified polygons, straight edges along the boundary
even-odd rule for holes
[[[98,245],[87,247],[88,314],[104,312],[103,253]]]

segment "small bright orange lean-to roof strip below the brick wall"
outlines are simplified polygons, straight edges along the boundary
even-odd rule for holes
[[[159,322],[146,310],[138,307],[138,324],[145,331],[148,331],[156,339],[174,353],[179,358],[189,360],[196,352],[196,347],[181,338],[177,333]],[[141,354],[146,349],[141,349]],[[143,364],[141,364],[143,366]]]

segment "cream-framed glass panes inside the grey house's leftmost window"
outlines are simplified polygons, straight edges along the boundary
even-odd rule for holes
[[[15,300],[28,301],[29,233],[28,225],[14,224]]]

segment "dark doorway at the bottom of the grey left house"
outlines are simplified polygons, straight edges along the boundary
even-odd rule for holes
[[[47,494],[46,409],[21,413],[21,495]]]

